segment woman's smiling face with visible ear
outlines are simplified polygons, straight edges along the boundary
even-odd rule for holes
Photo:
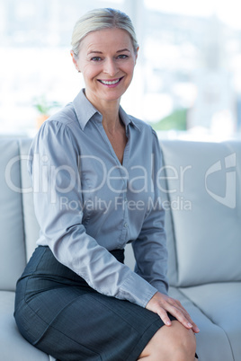
[[[129,33],[113,28],[90,32],[81,41],[76,69],[85,80],[85,95],[98,109],[105,101],[120,101],[131,82],[137,53]]]

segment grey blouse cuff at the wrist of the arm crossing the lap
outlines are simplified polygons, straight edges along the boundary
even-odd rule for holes
[[[132,272],[119,288],[116,298],[128,300],[132,304],[146,308],[147,303],[156,294],[157,289],[144,278]]]

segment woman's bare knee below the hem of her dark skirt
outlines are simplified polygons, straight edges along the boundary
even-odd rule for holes
[[[147,343],[139,360],[149,361],[193,361],[196,339],[192,330],[187,330],[179,321],[172,326],[163,326]]]

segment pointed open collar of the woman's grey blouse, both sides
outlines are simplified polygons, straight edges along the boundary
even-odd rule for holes
[[[94,108],[94,105],[90,101],[88,101],[87,98],[85,97],[85,89],[82,89],[77,94],[75,100],[73,101],[73,104],[74,104],[74,108],[76,110],[77,119],[79,121],[79,124],[80,124],[80,127],[82,128],[82,130],[85,129],[87,122],[96,113],[99,115],[100,121],[102,121],[102,119],[103,119],[102,114],[98,110],[96,110]],[[120,106],[119,112],[120,112],[121,120],[125,124],[126,129],[128,128],[129,125],[133,125],[135,128],[137,128],[139,130],[135,121],[133,121],[133,119],[129,118],[129,115],[125,112],[125,110],[122,109],[121,106]]]

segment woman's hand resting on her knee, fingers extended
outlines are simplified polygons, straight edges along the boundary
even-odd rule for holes
[[[156,294],[148,302],[146,308],[153,313],[157,313],[166,326],[171,326],[172,324],[167,315],[168,312],[180,321],[187,329],[192,329],[195,333],[200,331],[182,304],[168,295],[156,292]]]

